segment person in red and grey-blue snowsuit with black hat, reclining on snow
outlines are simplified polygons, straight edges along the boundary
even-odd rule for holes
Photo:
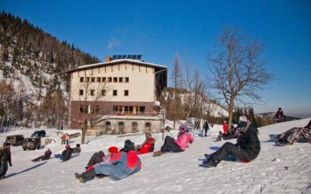
[[[120,180],[137,173],[140,168],[141,162],[134,151],[134,143],[126,140],[124,151],[116,154],[112,165],[98,165],[82,174],[75,173],[75,177],[82,183],[85,183],[86,179],[94,178],[97,175],[106,175],[113,180]]]

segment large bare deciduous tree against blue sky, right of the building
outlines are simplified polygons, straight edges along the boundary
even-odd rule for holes
[[[273,79],[265,69],[263,44],[241,34],[237,27],[225,26],[217,36],[216,50],[209,55],[211,88],[225,100],[232,124],[235,101],[261,100],[259,92]]]

